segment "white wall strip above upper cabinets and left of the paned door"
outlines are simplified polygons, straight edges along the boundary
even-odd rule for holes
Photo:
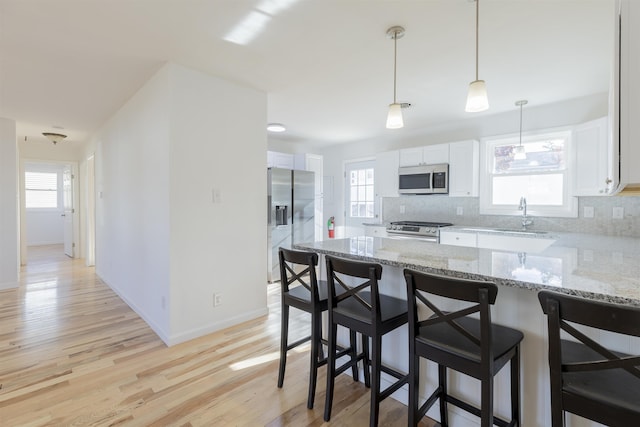
[[[514,102],[515,102],[514,98]],[[608,95],[606,93],[572,99],[566,102],[542,106],[530,102],[523,112],[523,132],[583,123],[607,115]],[[373,158],[378,152],[407,147],[440,144],[480,139],[493,135],[513,134],[520,127],[520,110],[514,105],[513,112],[503,114],[474,115],[467,120],[448,123],[413,133],[397,131],[400,137],[395,141],[361,141],[358,143],[334,145],[323,149],[324,174],[334,182],[333,203],[325,201],[324,216],[336,218],[336,237],[344,232],[344,162]]]

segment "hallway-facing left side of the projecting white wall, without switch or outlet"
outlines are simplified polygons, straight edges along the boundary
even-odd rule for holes
[[[96,273],[165,341],[171,335],[169,110],[164,68],[93,138]]]

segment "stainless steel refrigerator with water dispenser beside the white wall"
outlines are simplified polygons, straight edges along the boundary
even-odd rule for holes
[[[280,280],[278,248],[315,240],[314,173],[267,169],[267,249],[269,283]]]

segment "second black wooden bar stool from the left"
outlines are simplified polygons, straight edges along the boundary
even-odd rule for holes
[[[362,335],[364,380],[371,387],[369,425],[377,426],[380,402],[407,382],[407,375],[382,365],[382,336],[407,323],[406,301],[380,294],[378,281],[382,277],[380,264],[351,261],[327,255],[329,292],[329,361],[324,420],[331,418],[335,377],[356,361],[336,369],[336,334],[338,325]],[[342,293],[336,292],[342,290]],[[369,338],[372,348],[369,357]],[[396,382],[380,390],[380,373],[396,378]]]

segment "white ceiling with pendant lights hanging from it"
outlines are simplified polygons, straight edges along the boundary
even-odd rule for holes
[[[394,140],[512,111],[518,99],[607,91],[613,4],[482,0],[479,78],[490,109],[465,113],[473,0],[0,0],[0,117],[16,120],[20,140],[57,131],[81,144],[172,61],[266,92],[268,121],[288,128],[280,140]],[[394,25],[406,30],[398,101],[412,106],[405,127],[388,130]]]

